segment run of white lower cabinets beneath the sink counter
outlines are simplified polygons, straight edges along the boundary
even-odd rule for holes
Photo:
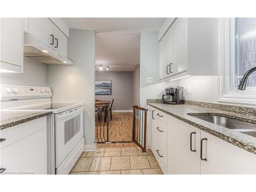
[[[148,109],[150,147],[164,174],[256,174],[256,155],[151,106]]]

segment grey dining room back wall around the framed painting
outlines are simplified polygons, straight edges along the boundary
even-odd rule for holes
[[[112,95],[96,95],[99,100],[114,100],[113,110],[132,110],[133,72],[96,72],[96,80],[112,80]]]

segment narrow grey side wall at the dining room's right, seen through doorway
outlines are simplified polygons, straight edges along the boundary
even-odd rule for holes
[[[140,65],[133,71],[133,104],[140,104]]]

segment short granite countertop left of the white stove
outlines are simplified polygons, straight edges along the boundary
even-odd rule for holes
[[[7,129],[8,127],[25,123],[40,117],[51,115],[51,110],[44,111],[0,111],[0,130]]]

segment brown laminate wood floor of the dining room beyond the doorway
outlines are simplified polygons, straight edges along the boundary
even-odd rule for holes
[[[109,121],[109,141],[132,141],[133,136],[133,113],[112,113],[113,118]],[[95,121],[96,141],[106,140],[106,122]]]

